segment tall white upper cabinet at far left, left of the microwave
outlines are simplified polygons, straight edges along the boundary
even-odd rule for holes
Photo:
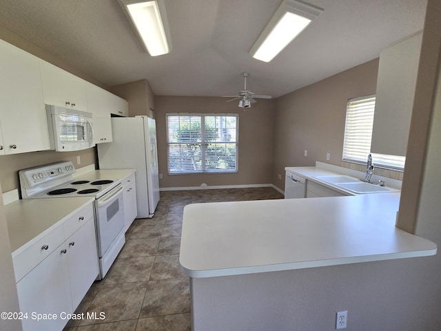
[[[0,40],[0,123],[3,150],[49,150],[39,59]]]

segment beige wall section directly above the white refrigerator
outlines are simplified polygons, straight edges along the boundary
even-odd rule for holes
[[[149,109],[154,110],[154,94],[146,79],[112,86],[111,92],[127,100],[129,116],[149,116]]]

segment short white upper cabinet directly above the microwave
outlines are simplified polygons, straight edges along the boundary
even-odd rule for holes
[[[43,60],[40,70],[44,103],[90,112],[83,79]]]

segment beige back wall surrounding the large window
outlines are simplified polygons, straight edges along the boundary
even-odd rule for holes
[[[245,110],[238,103],[219,97],[155,97],[158,136],[159,180],[161,188],[207,185],[247,185],[271,183],[274,135],[274,100],[259,100]],[[167,174],[165,114],[170,112],[239,114],[238,172],[234,174]]]

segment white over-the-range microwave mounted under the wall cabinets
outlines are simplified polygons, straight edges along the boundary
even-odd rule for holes
[[[46,105],[51,150],[70,152],[95,146],[92,114]]]

